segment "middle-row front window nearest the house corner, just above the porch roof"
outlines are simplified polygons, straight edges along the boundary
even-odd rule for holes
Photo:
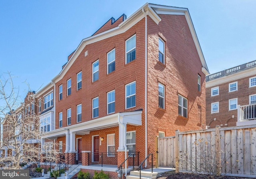
[[[132,82],[130,84],[127,84],[125,86],[126,90],[126,97],[125,97],[125,104],[126,104],[126,109],[130,107],[135,107],[135,101],[136,101],[136,82]]]

